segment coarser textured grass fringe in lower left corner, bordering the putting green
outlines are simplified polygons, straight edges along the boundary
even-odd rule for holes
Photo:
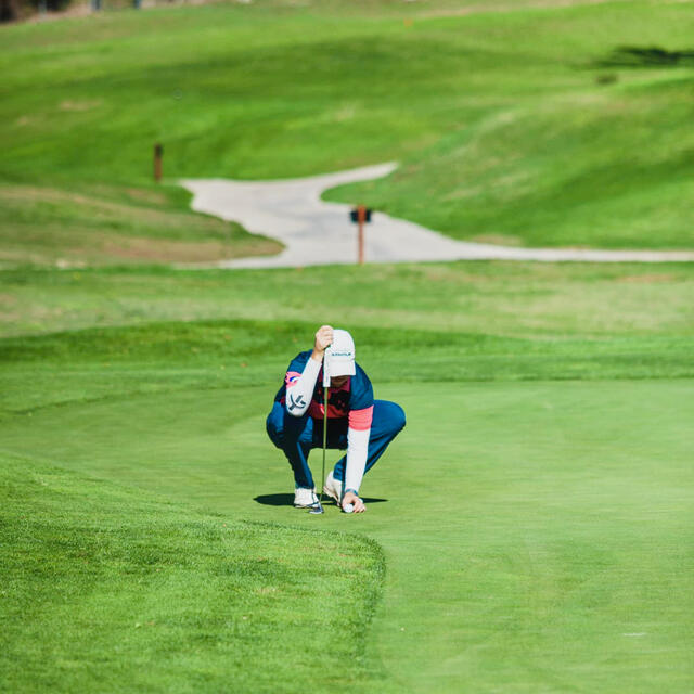
[[[243,523],[8,455],[0,565],[7,692],[303,692],[317,653],[351,686],[384,570],[354,535]]]

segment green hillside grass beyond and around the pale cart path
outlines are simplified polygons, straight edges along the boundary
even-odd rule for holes
[[[167,187],[398,160],[327,197],[457,239],[692,247],[694,66],[614,60],[621,46],[689,50],[687,8],[468,4],[261,1],[2,27],[2,257],[141,259],[134,222],[105,208],[108,190],[158,194],[155,142]],[[184,198],[165,198],[157,222],[128,203],[141,243],[181,236]],[[144,257],[273,250],[193,216],[183,235],[213,247]]]

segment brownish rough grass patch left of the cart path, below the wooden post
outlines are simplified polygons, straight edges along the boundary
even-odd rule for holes
[[[282,249],[239,224],[175,207],[187,201],[152,187],[0,187],[0,265],[209,262]]]

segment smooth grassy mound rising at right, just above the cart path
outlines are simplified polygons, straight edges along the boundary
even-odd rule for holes
[[[510,104],[391,179],[326,198],[363,200],[465,241],[691,248],[694,139],[681,128],[693,75],[627,75],[625,86]]]

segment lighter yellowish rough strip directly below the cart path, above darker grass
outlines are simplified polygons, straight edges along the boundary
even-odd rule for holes
[[[0,272],[0,334],[193,320],[334,321],[522,338],[691,336],[689,265],[453,262]]]

